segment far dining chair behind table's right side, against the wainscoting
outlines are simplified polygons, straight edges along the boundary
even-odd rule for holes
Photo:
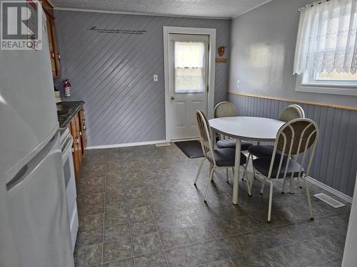
[[[300,119],[305,117],[305,112],[303,108],[299,105],[289,105],[288,107],[284,108],[283,112],[278,117],[278,120],[283,122],[288,122],[294,119]],[[248,163],[254,157],[271,157],[273,155],[274,146],[273,145],[253,145],[248,147]],[[278,155],[281,153],[280,151],[276,152]],[[246,164],[248,166],[248,164]],[[297,178],[298,179],[298,178]],[[284,181],[286,182],[286,181]],[[299,180],[298,180],[299,182]],[[300,187],[300,186],[299,186]],[[281,190],[283,194],[285,187]],[[263,194],[263,192],[261,192]]]

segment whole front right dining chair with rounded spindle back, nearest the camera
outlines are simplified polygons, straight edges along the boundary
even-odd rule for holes
[[[265,181],[270,183],[268,222],[271,221],[273,179],[283,179],[283,184],[285,184],[286,177],[290,177],[290,179],[301,177],[305,182],[310,219],[313,221],[311,198],[306,178],[311,169],[317,142],[318,125],[316,122],[306,118],[291,120],[286,122],[278,131],[271,157],[253,159],[254,172],[251,181],[253,181],[254,173],[258,172],[264,178],[263,184]],[[278,153],[278,150],[281,153]],[[294,155],[301,155],[301,162],[293,159]]]

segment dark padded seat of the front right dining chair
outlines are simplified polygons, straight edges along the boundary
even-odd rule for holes
[[[288,161],[288,171],[286,173],[286,177],[291,177],[291,174],[293,174],[293,177],[298,177],[298,173],[300,172],[301,165],[298,164],[298,162],[296,162],[295,160],[289,159],[287,156],[284,156],[283,163],[281,164],[281,170],[279,174],[277,174],[280,159],[281,159],[280,156],[276,156],[276,159],[274,160],[274,164],[273,164],[273,170],[271,172],[271,178],[282,179],[284,177],[287,161]],[[253,167],[256,168],[256,170],[261,174],[263,174],[265,177],[268,177],[270,164],[271,164],[271,157],[260,157],[258,159],[253,159]],[[301,175],[302,174],[303,174],[303,169]]]

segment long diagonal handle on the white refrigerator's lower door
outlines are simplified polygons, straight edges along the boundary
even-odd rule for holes
[[[57,138],[56,138],[57,137]],[[34,172],[39,163],[44,159],[44,156],[49,154],[56,144],[56,140],[59,138],[59,132],[56,132],[56,135],[52,137],[49,143],[35,156],[33,157],[24,167],[22,167],[19,172],[17,172],[14,177],[6,183],[6,189],[9,192],[11,189],[17,185],[24,182],[25,177],[29,177],[31,172]]]

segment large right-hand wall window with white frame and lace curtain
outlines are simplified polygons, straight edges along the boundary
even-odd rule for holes
[[[357,4],[323,0],[299,10],[296,90],[357,95]]]

